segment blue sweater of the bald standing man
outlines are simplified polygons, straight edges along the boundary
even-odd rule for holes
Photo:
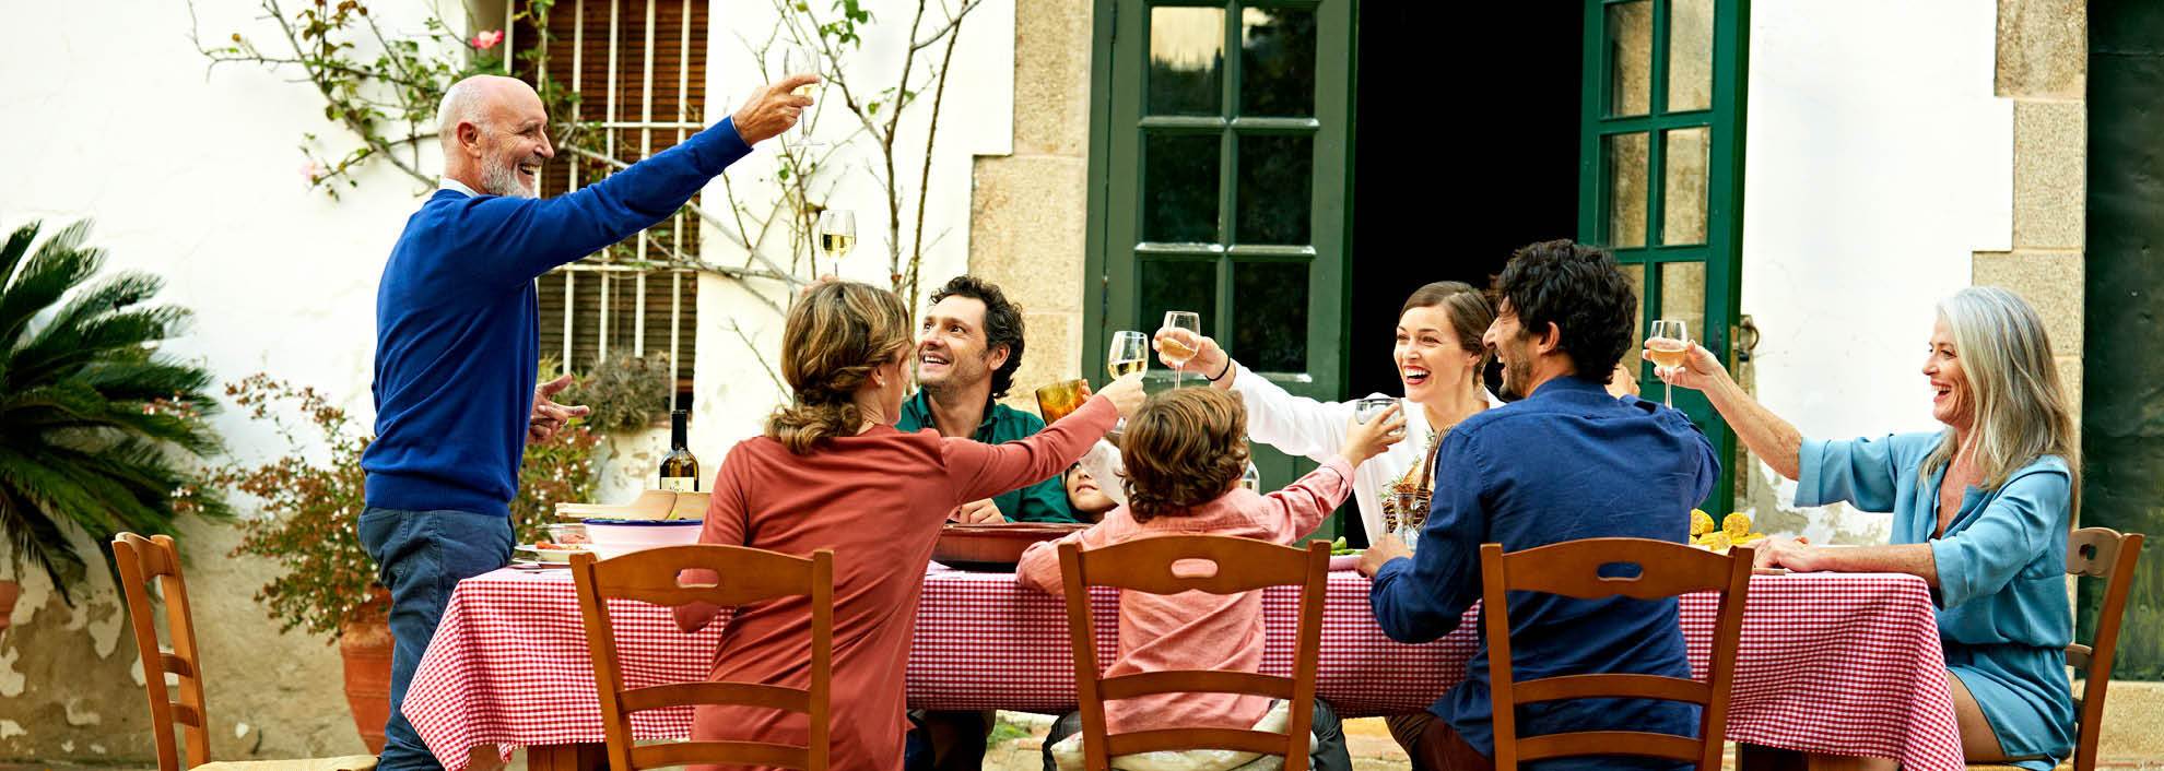
[[[422,203],[377,289],[368,505],[509,516],[541,365],[535,279],[669,218],[747,153],[721,121],[556,199]]]

